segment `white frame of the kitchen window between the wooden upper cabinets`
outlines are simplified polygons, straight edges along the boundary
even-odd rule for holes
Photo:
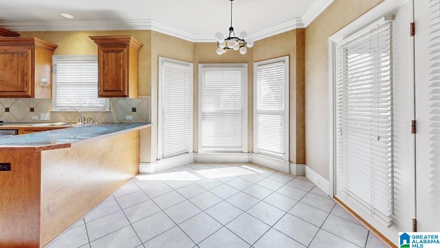
[[[90,63],[90,62],[96,62],[98,63],[98,55],[52,55],[52,111],[76,111],[74,108],[77,108],[80,111],[84,112],[106,112],[110,110],[110,101],[108,98],[104,99],[104,107],[102,109],[98,109],[96,107],[58,107],[56,105],[56,70],[57,70],[57,64],[58,63]],[[97,67],[98,68],[98,67]],[[96,72],[98,74],[98,72]],[[96,81],[96,97],[98,97],[98,79]]]

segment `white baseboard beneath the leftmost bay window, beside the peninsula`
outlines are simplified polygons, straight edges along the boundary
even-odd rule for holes
[[[188,163],[194,163],[194,154],[181,154],[152,163],[140,163],[139,173],[151,174],[162,172],[180,165],[187,165]]]

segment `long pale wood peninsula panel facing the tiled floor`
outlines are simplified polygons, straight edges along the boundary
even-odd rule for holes
[[[41,245],[139,172],[140,132],[42,153]]]

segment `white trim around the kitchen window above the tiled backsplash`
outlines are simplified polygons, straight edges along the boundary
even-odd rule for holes
[[[58,109],[56,105],[56,64],[63,61],[74,62],[74,61],[93,61],[98,62],[98,55],[52,55],[52,112],[65,111],[65,112],[76,112],[73,109]],[[96,83],[98,85],[98,82]],[[108,98],[105,99],[104,110],[87,110],[82,108],[81,111],[84,112],[107,112],[110,110],[110,101]]]

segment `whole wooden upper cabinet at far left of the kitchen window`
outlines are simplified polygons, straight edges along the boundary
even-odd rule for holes
[[[0,37],[0,97],[50,99],[56,47],[35,37]]]

